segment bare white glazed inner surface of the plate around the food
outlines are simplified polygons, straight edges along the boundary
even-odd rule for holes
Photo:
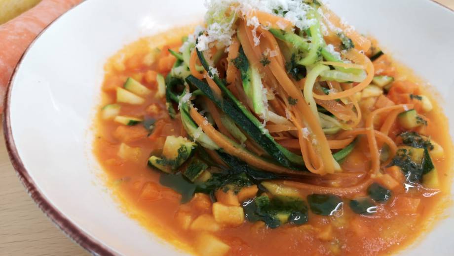
[[[454,134],[454,12],[429,0],[331,0],[331,8],[379,42],[446,96]],[[91,154],[90,130],[103,65],[124,44],[201,20],[202,0],[89,0],[53,23],[31,46],[12,80],[6,113],[10,147],[35,192],[85,247],[87,236],[120,255],[179,255],[119,210]],[[29,185],[30,186],[30,185]],[[30,188],[30,187],[29,187]],[[41,206],[42,206],[41,205]],[[404,255],[452,255],[451,216]],[[58,219],[58,225],[65,227]],[[79,233],[79,231],[81,233]]]

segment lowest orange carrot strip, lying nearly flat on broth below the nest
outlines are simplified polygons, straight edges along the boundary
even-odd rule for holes
[[[355,193],[363,191],[370,184],[372,184],[372,178],[369,176],[357,185],[354,185],[351,187],[339,187],[339,188],[317,186],[317,185],[290,181],[290,180],[278,181],[278,183],[282,183],[285,186],[290,186],[290,187],[294,187],[294,188],[298,188],[298,189],[309,190],[312,193],[320,193],[320,194],[329,193],[329,194],[334,194],[334,195],[338,195],[338,196],[346,196],[346,195],[351,195],[351,194],[355,194]]]

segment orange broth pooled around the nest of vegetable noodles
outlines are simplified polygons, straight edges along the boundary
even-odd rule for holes
[[[101,113],[98,113],[93,152],[109,177],[109,186],[127,213],[165,240],[193,252],[192,244],[200,231],[186,229],[181,213],[188,213],[192,219],[202,213],[210,214],[212,202],[207,196],[197,194],[189,203],[180,205],[181,195],[161,186],[159,171],[147,166],[150,153],[162,148],[166,136],[186,135],[180,119],[171,120],[167,114],[165,98],[155,98],[153,94],[157,86],[156,73],[165,76],[176,60],[167,49],[178,50],[181,37],[187,35],[189,30],[175,29],[141,39],[125,46],[107,62],[102,105],[114,103],[115,88],[122,86],[127,77],[133,77],[153,92],[146,97],[144,104],[121,104],[120,115],[148,115],[159,121],[155,130],[148,135],[142,125],[124,126],[112,120],[103,120]],[[160,51],[150,55],[155,48]],[[380,58],[390,60],[389,56]],[[416,85],[414,76],[397,64],[385,65],[385,68],[384,72],[392,72],[397,81],[411,77],[413,82],[408,83]],[[426,92],[421,85],[416,86]],[[434,219],[449,204],[451,137],[442,109],[431,99],[434,109],[425,115],[429,122],[424,133],[438,142],[448,157],[434,163],[439,172],[438,194],[424,197],[421,192],[406,193],[399,188],[392,191],[392,198],[387,204],[379,204],[378,212],[370,216],[353,213],[344,203],[340,216],[321,216],[309,211],[309,221],[301,226],[287,224],[270,229],[260,222],[245,221],[237,227],[224,227],[215,234],[230,246],[228,255],[384,255],[413,243],[432,226]],[[363,115],[367,115],[370,108],[370,105],[365,104],[362,104]],[[394,126],[391,133],[395,137],[398,128]],[[122,142],[140,148],[140,152],[128,159],[120,158],[117,151]],[[368,152],[367,141],[361,139],[341,164],[342,169],[346,172],[367,169],[369,159],[364,152]],[[303,198],[309,193],[301,190]]]

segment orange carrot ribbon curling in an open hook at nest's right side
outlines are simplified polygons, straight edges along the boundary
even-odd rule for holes
[[[366,73],[367,77],[364,79],[363,82],[359,83],[358,85],[354,86],[351,89],[344,90],[342,92],[338,93],[330,93],[329,95],[318,95],[314,94],[314,98],[316,99],[321,99],[321,100],[330,100],[330,99],[339,99],[347,96],[351,96],[355,94],[356,92],[362,91],[364,88],[366,88],[367,85],[369,85],[372,82],[372,79],[374,78],[374,65],[372,64],[371,60],[364,54],[360,53],[356,49],[350,49],[347,51],[345,56],[352,60],[352,61],[358,61],[362,62],[366,66]]]

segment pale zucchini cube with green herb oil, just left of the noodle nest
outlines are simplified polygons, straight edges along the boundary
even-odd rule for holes
[[[162,148],[162,156],[167,159],[181,158],[181,161],[185,162],[188,160],[192,149],[195,148],[195,146],[196,144],[189,141],[187,138],[181,136],[175,137],[173,135],[167,136],[164,142],[164,147]],[[182,154],[182,152],[187,153]]]

